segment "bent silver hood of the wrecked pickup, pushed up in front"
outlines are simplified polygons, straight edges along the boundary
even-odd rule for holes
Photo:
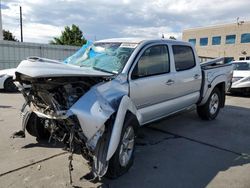
[[[16,72],[33,78],[59,76],[112,76],[110,73],[79,67],[49,59],[27,59],[16,68]]]

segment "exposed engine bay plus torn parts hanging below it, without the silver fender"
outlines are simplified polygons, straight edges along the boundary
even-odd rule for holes
[[[31,78],[17,73],[16,80],[21,85],[30,86],[29,89],[21,90],[26,99],[26,105],[22,109],[23,115],[26,116],[24,121],[28,118],[25,125],[23,125],[24,130],[26,129],[29,134],[38,138],[47,137],[49,142],[59,141],[64,143],[65,149],[70,151],[72,155],[73,153],[80,153],[89,161],[94,176],[103,176],[107,170],[107,165],[103,165],[104,169],[100,169],[101,165],[97,163],[100,161],[105,163],[106,156],[100,156],[102,154],[100,151],[95,153],[95,149],[104,147],[107,150],[108,142],[99,141],[99,138],[105,131],[105,126],[102,126],[97,134],[89,140],[84,135],[76,115],[67,113],[91,87],[98,83],[105,83],[110,78]],[[40,131],[35,129],[40,129]],[[42,129],[44,130],[41,131]],[[98,141],[99,144],[97,143]],[[104,154],[106,153],[104,152]],[[73,159],[72,157],[70,158]],[[102,159],[100,160],[99,158]]]

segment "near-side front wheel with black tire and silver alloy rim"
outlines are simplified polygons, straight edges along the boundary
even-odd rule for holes
[[[106,177],[111,179],[117,178],[126,173],[129,170],[129,168],[133,165],[137,127],[138,123],[136,117],[134,117],[131,114],[127,115],[122,128],[120,143],[116,149],[115,154],[109,161],[109,167]],[[127,141],[126,135],[130,136],[128,137],[129,138],[128,140],[131,141],[130,146],[128,143],[125,144],[125,142]],[[128,158],[127,160],[124,160],[124,158],[122,158],[122,156],[124,156],[122,155],[122,153],[126,152],[125,151],[126,148],[127,148]]]

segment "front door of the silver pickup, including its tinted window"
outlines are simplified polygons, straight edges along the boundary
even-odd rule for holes
[[[170,56],[167,45],[152,45],[144,49],[133,67],[130,98],[142,115],[142,122],[166,114],[155,105],[161,105],[174,97],[174,76],[170,74]]]

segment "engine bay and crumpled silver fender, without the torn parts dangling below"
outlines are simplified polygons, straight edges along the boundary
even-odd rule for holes
[[[108,101],[94,87],[105,82],[103,78],[32,78],[18,72],[16,75],[19,83],[31,86],[29,90],[22,91],[31,112],[56,124],[65,124],[66,131],[69,124],[78,124],[82,137],[89,147],[94,148],[91,139],[114,113]]]

